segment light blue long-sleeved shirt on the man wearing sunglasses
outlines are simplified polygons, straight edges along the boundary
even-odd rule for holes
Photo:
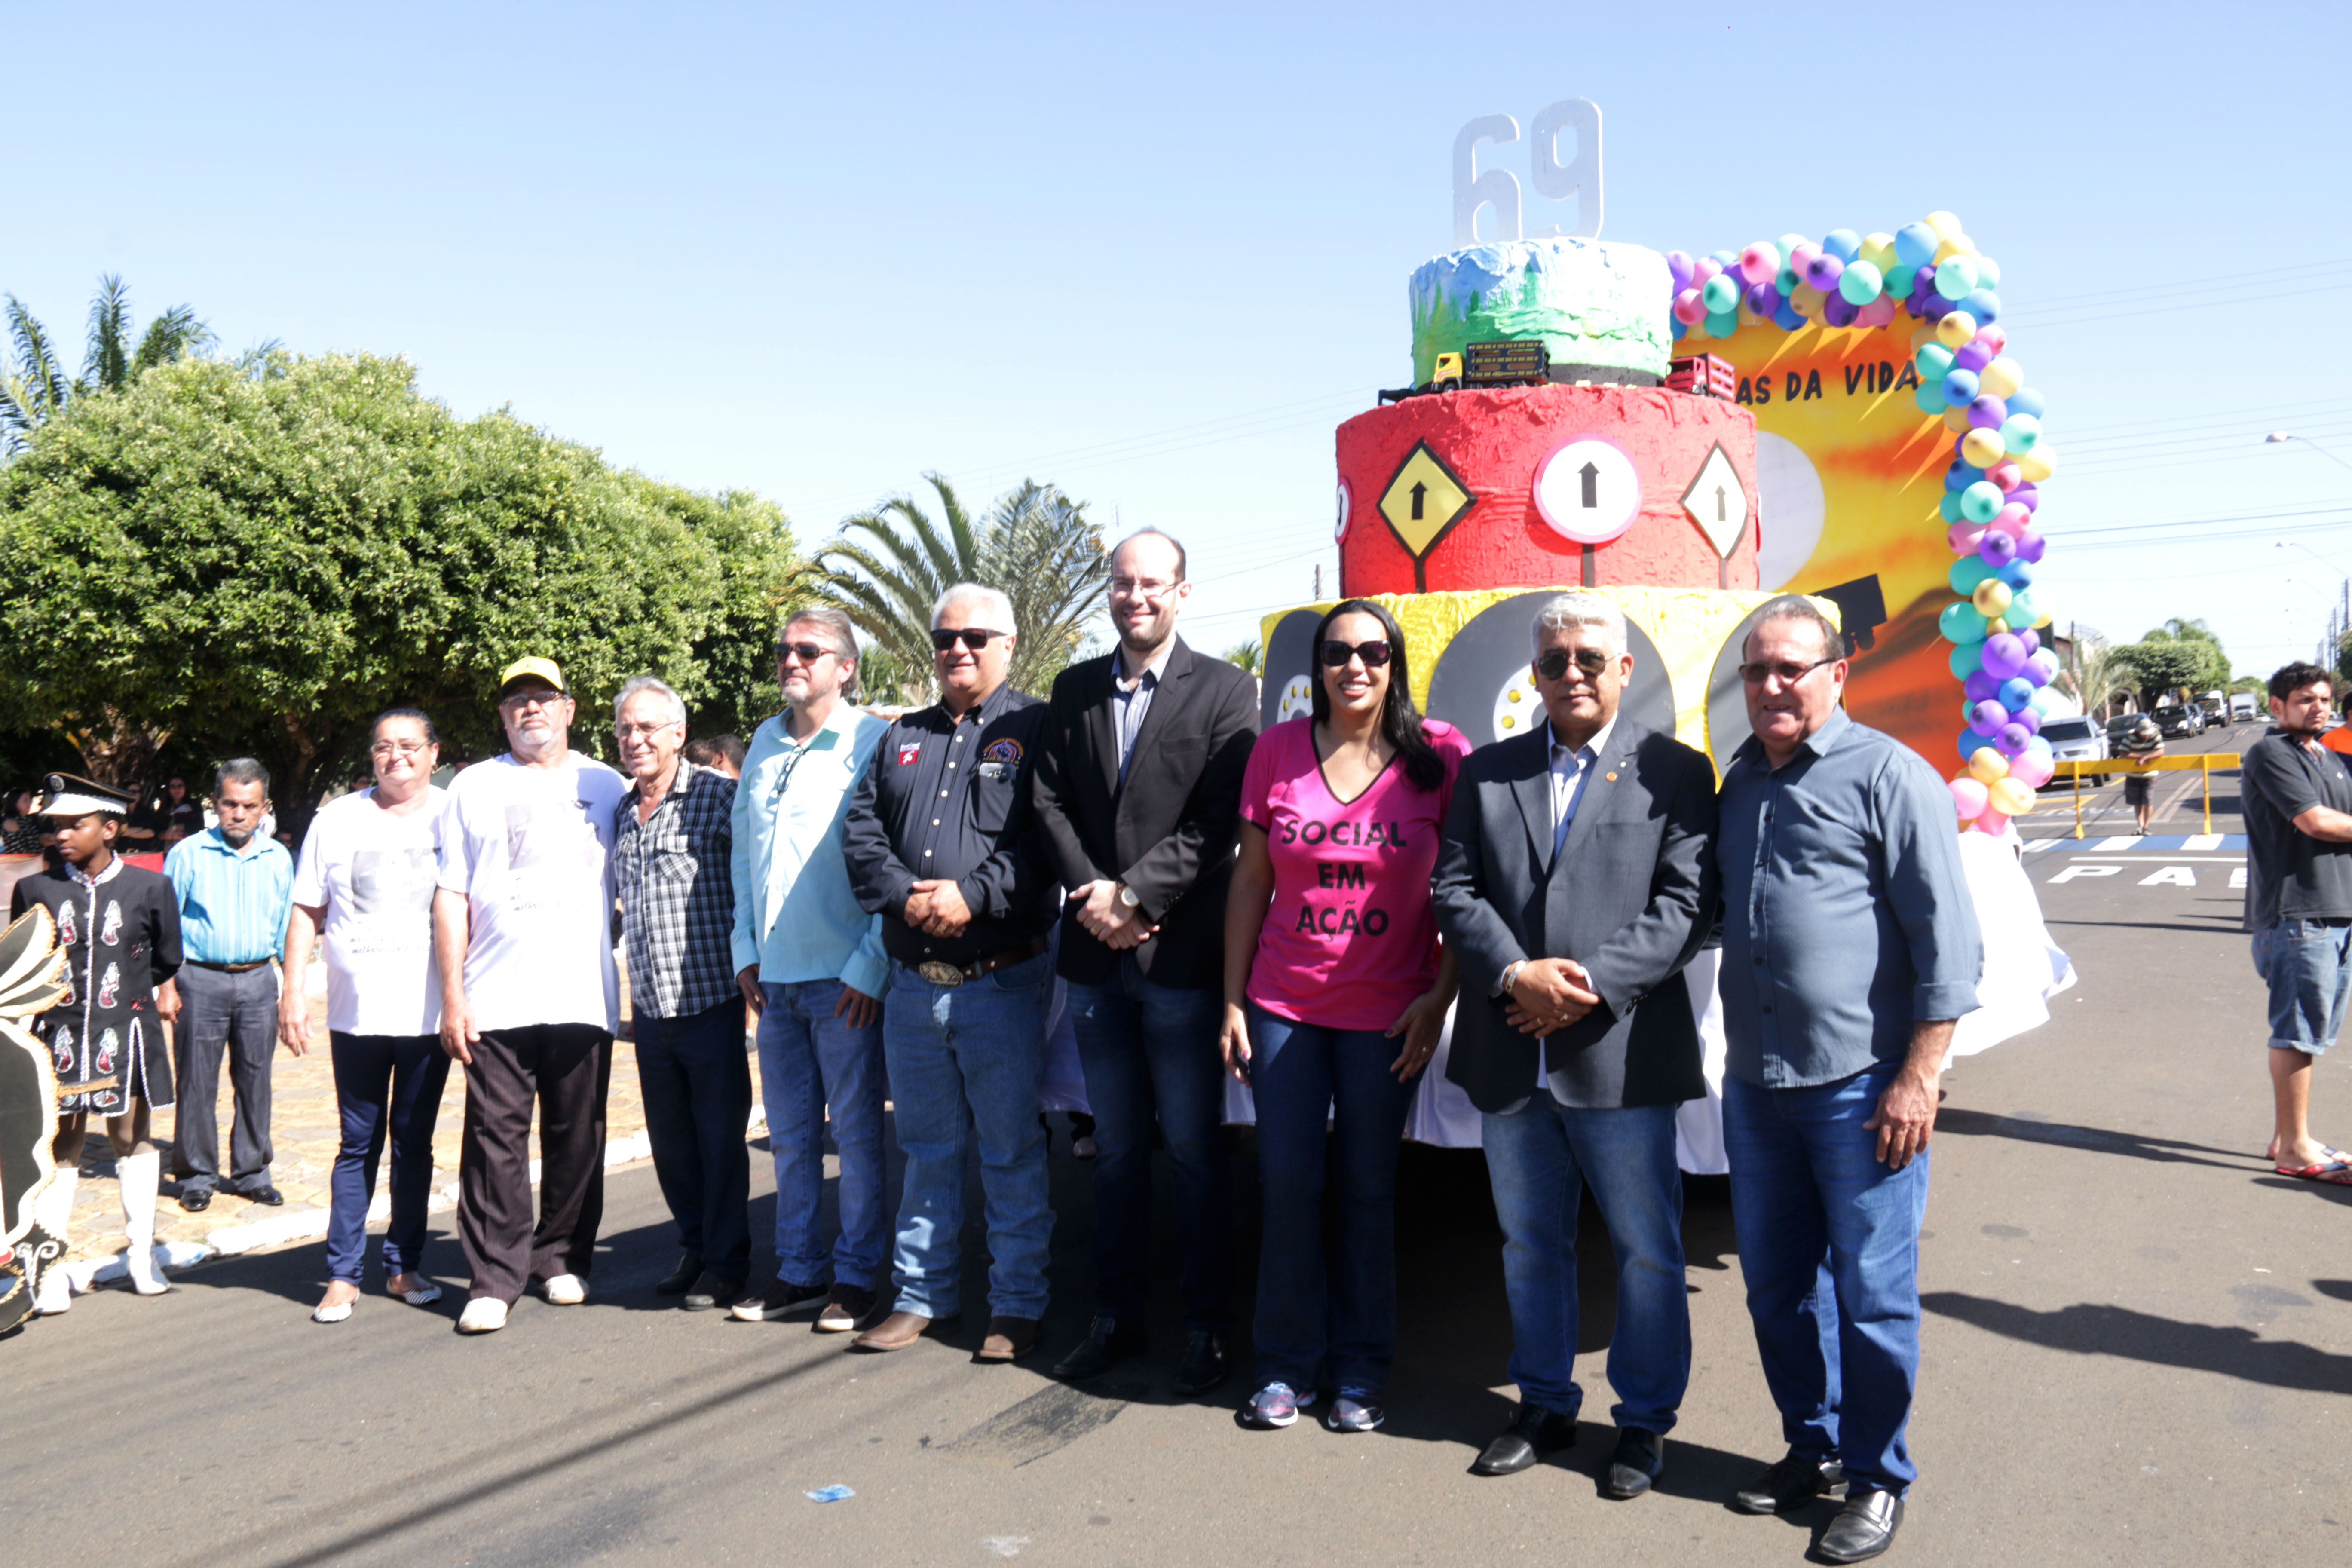
[[[783,715],[743,755],[734,804],[734,966],[760,966],[762,985],[840,980],[880,997],[889,983],[882,917],[858,907],[842,860],[849,795],[889,729],[849,703],[807,745]]]

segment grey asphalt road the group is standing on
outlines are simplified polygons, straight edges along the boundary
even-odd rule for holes
[[[2124,870],[2063,875],[2110,863]],[[2263,1161],[2265,1030],[2232,856],[2060,844],[2027,865],[2082,985],[1947,1079],[1922,1246],[1922,1479],[1889,1561],[2340,1559],[2352,1190]],[[2192,882],[2143,882],[2166,865]],[[2317,1131],[2352,1143],[2343,1060],[2321,1063],[2314,1103]],[[1235,1157],[1249,1208],[1247,1138]],[[644,1168],[612,1180],[595,1300],[524,1300],[485,1340],[452,1333],[456,1291],[426,1312],[369,1295],[313,1326],[315,1246],[193,1269],[162,1300],[99,1291],[0,1340],[7,1559],[1795,1563],[1828,1521],[1828,1505],[1724,1509],[1780,1439],[1722,1182],[1689,1192],[1698,1356],[1668,1474],[1621,1505],[1595,1488],[1597,1354],[1573,1450],[1465,1474],[1510,1408],[1477,1152],[1406,1150],[1402,1345],[1371,1436],[1242,1429],[1244,1378],[1174,1399],[1169,1293],[1162,1356],[1051,1382],[1091,1279],[1084,1166],[1061,1138],[1054,1178],[1056,1305],[1037,1363],[1014,1368],[969,1361],[978,1314],[946,1342],[858,1356],[804,1321],[656,1305],[670,1244]],[[1599,1352],[1611,1269],[1592,1229],[1583,1345]],[[435,1237],[428,1267],[463,1279],[454,1239]],[[833,1483],[856,1495],[804,1495]]]

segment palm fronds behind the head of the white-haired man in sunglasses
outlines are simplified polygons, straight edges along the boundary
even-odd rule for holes
[[[974,527],[946,477],[924,480],[938,494],[941,520],[915,496],[849,517],[816,555],[823,597],[929,691],[931,604],[955,583],[1002,588],[1021,630],[1009,679],[1016,691],[1042,691],[1077,651],[1110,571],[1103,531],[1087,522],[1084,501],[1035,480],[1000,496]]]

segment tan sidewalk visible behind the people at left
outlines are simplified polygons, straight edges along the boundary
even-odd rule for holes
[[[313,971],[315,973],[315,971]],[[628,990],[623,980],[621,1016],[628,1018]],[[270,1164],[282,1208],[254,1204],[228,1192],[219,1192],[202,1213],[179,1206],[179,1182],[172,1180],[172,1133],[176,1117],[169,1110],[155,1112],[155,1143],[165,1150],[165,1187],[155,1206],[155,1241],[167,1246],[165,1267],[181,1269],[205,1258],[249,1253],[259,1246],[282,1246],[289,1241],[313,1241],[327,1234],[327,1199],[334,1173],[334,1150],[339,1143],[339,1114],[334,1103],[334,1065],[327,1053],[327,999],[310,997],[310,1051],[289,1056],[278,1046],[270,1077]],[[753,1128],[764,1126],[760,1110],[760,1058],[753,1056]],[[228,1117],[233,1095],[228,1072],[221,1072],[221,1098],[214,1107],[221,1126],[221,1152],[228,1152]],[[644,1103],[637,1093],[637,1051],[626,1039],[612,1048],[612,1093],[604,1105],[604,1164],[623,1166],[649,1159],[644,1143]],[[452,1063],[449,1086],[442,1091],[440,1121],[433,1128],[433,1211],[456,1206],[459,1143],[466,1131],[466,1070]],[[532,1166],[539,1166],[539,1128],[532,1128]],[[388,1157],[376,1171],[376,1201],[369,1225],[379,1227],[388,1211],[386,1197]],[[94,1124],[82,1140],[82,1182],[73,1197],[71,1248],[66,1267],[78,1288],[89,1288],[92,1279],[113,1279],[122,1272],[120,1253],[129,1244],[122,1234],[122,1190],[115,1178],[115,1150],[106,1140],[106,1126]],[[374,1244],[369,1244],[374,1251]],[[374,1262],[369,1262],[374,1267]]]

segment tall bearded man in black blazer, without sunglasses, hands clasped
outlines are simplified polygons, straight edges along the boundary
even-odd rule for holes
[[[1232,1199],[1216,1034],[1225,884],[1258,736],[1256,682],[1176,637],[1190,592],[1183,545],[1167,534],[1143,531],[1112,550],[1120,646],[1054,679],[1035,783],[1037,825],[1070,900],[1061,976],[1098,1150],[1094,1326],[1054,1373],[1091,1378],[1143,1349],[1157,1107],[1190,1331],[1178,1394],[1225,1378]]]

